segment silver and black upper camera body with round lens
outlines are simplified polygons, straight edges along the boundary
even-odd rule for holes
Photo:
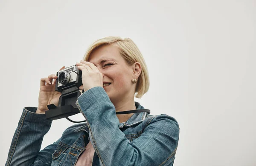
[[[76,65],[64,68],[58,71],[56,75],[58,79],[56,80],[55,90],[58,92],[74,86],[79,88],[82,85],[82,71],[78,70]]]

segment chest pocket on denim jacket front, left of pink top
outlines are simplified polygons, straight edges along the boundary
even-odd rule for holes
[[[66,156],[68,148],[58,144],[57,150],[52,153],[52,166],[58,166],[61,160]]]

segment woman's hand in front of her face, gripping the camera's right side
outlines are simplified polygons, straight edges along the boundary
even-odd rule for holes
[[[79,70],[82,70],[83,85],[79,87],[80,90],[82,88],[85,92],[93,87],[103,87],[103,75],[93,63],[81,60],[76,65]]]

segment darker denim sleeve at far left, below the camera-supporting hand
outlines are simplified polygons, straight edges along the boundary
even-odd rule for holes
[[[47,120],[45,114],[35,113],[36,109],[36,107],[23,109],[5,166],[51,165],[52,153],[58,141],[40,151],[44,135],[49,131],[52,120]]]

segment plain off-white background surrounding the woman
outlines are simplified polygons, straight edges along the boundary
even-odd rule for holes
[[[255,166],[255,29],[255,0],[0,0],[0,165],[41,77],[120,36],[148,65],[150,89],[136,101],[179,122],[175,166]],[[71,125],[53,121],[41,148]]]

